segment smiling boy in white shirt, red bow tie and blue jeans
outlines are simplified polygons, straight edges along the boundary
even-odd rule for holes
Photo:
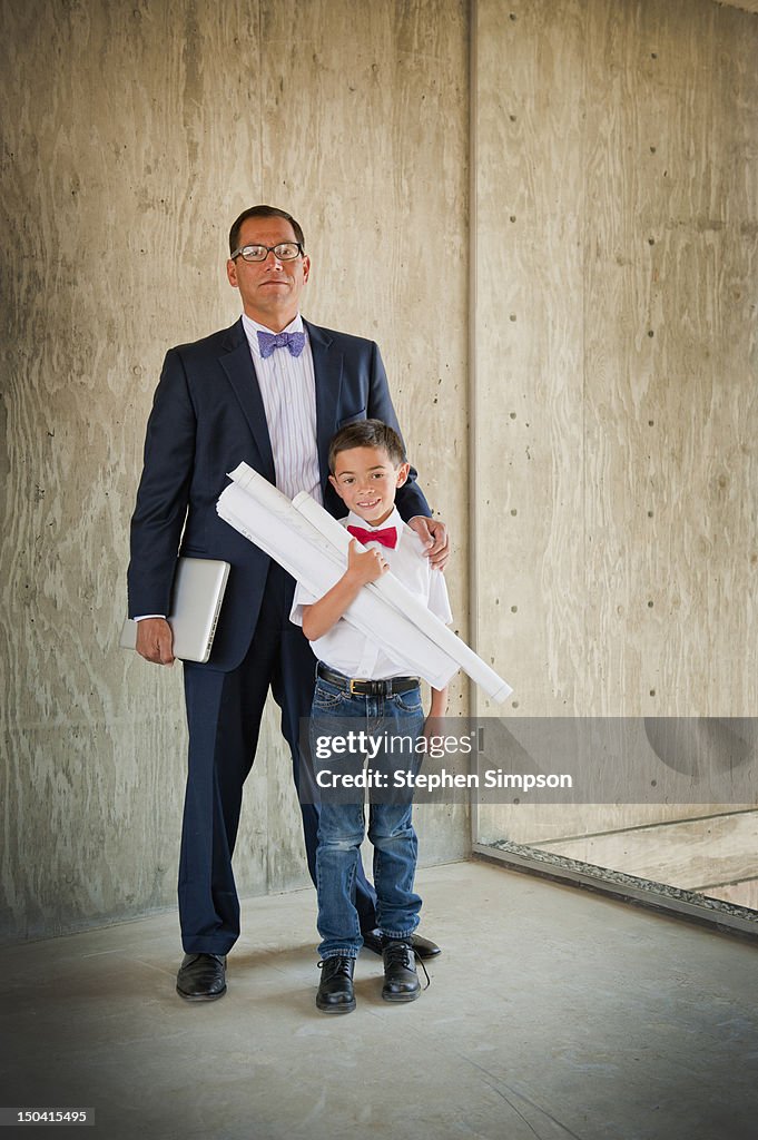
[[[354,776],[362,769],[362,756],[335,755],[326,765],[323,758],[317,760],[316,741],[323,742],[325,727],[327,739],[329,724],[333,733],[337,725],[340,730],[349,725],[354,732],[373,732],[375,740],[386,742],[390,738],[407,746],[421,735],[425,718],[418,677],[401,675],[398,662],[345,621],[343,614],[359,591],[388,570],[423,597],[442,621],[451,621],[451,614],[445,578],[431,568],[422,540],[402,522],[394,506],[396,491],[405,483],[409,469],[402,441],[392,427],[378,420],[343,427],[332,440],[329,470],[329,482],[350,512],[342,522],[357,532],[367,549],[361,553],[354,539],[350,543],[348,569],[321,598],[313,598],[298,586],[292,620],[302,625],[319,660],[311,714],[316,771],[327,767]],[[445,716],[446,709],[447,689],[432,690],[430,716]],[[376,735],[380,726],[381,735]],[[385,751],[388,747],[385,743]],[[397,756],[370,757],[375,771],[382,768],[383,760],[391,766],[398,764]],[[416,755],[409,758],[406,750],[404,771],[409,764],[417,766]],[[316,878],[323,940],[316,1004],[325,1013],[349,1013],[356,1008],[352,975],[362,938],[352,895],[365,830],[362,795],[362,790],[348,791],[347,796],[326,795],[321,799]],[[418,845],[411,823],[411,791],[405,791],[402,803],[398,803],[396,793],[390,803],[369,804],[368,838],[374,845],[376,914],[383,935],[382,997],[397,1002],[414,1001],[421,992],[410,943],[422,905],[413,889]],[[360,803],[356,803],[359,797]]]

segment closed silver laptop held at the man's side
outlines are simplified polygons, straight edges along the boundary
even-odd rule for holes
[[[179,559],[169,613],[174,657],[182,661],[207,661],[228,577],[228,562]],[[121,630],[123,649],[137,645],[138,624],[131,618],[124,621]]]

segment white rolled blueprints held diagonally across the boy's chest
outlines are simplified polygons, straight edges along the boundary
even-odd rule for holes
[[[348,564],[350,535],[344,527],[304,491],[290,502],[246,463],[229,478],[233,483],[217,504],[219,515],[321,597]],[[377,642],[399,668],[417,673],[434,689],[442,689],[463,668],[498,702],[512,692],[391,572],[365,586],[344,619]]]

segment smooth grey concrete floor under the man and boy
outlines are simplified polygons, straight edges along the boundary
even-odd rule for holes
[[[431,987],[389,1005],[364,951],[344,1017],[310,890],[245,903],[207,1004],[174,914],[0,951],[0,1105],[95,1107],[104,1140],[758,1137],[753,945],[487,863],[418,886]]]

